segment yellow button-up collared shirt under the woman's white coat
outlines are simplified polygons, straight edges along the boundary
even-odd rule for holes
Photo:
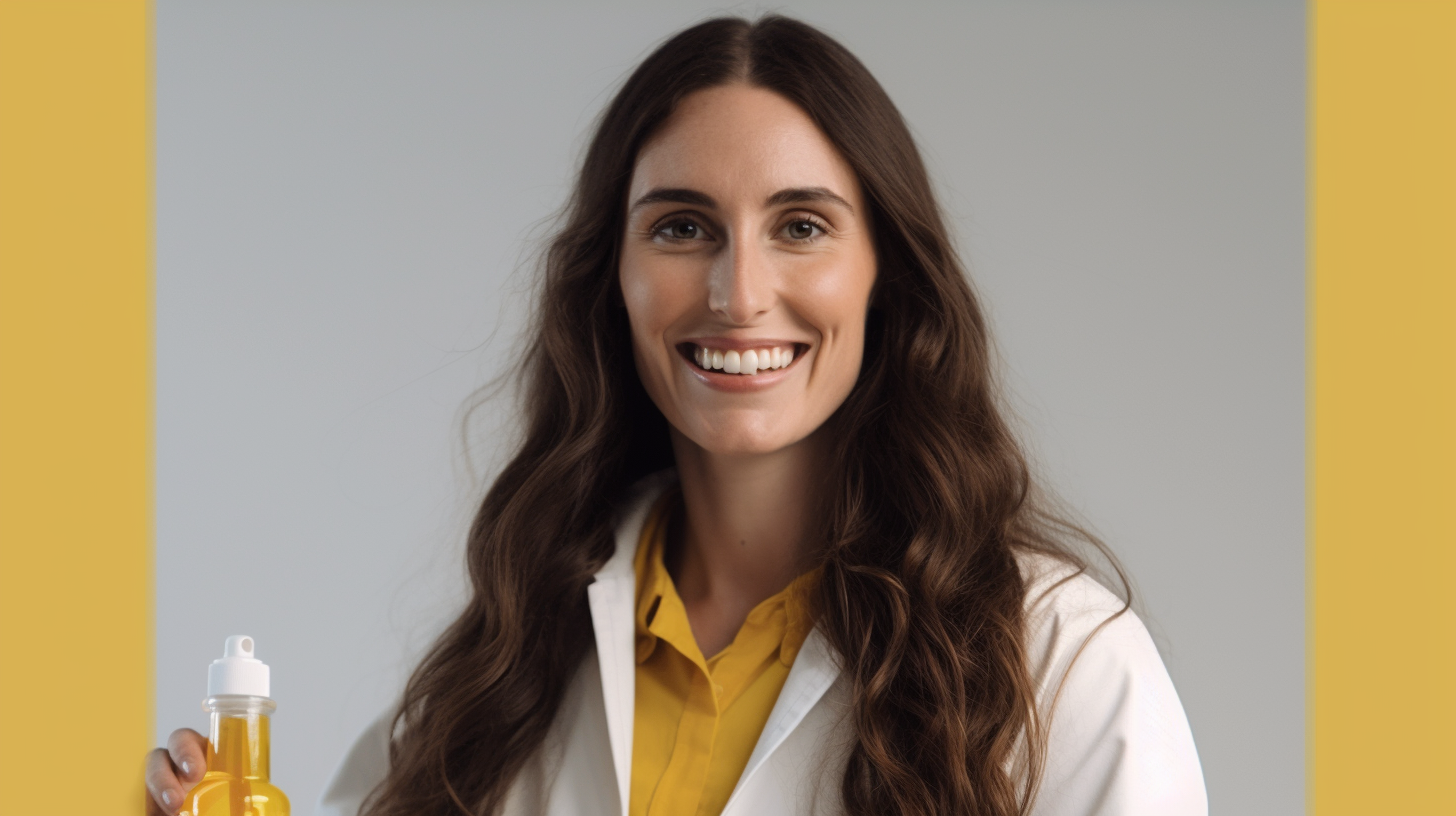
[[[630,816],[716,816],[748,764],[812,622],[805,573],[748,612],[734,641],[705,659],[662,567],[680,493],[668,491],[636,551],[636,710]]]

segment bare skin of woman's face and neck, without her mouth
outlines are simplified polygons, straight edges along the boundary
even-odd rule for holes
[[[695,195],[655,201],[661,191]],[[802,109],[747,85],[680,103],[639,153],[628,205],[619,275],[633,354],[671,425],[687,510],[668,570],[713,656],[802,571],[817,431],[859,374],[875,249],[839,150]],[[772,385],[731,392],[684,358],[689,340],[801,353]]]

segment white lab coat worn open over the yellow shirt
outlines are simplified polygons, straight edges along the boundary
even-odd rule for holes
[[[626,815],[636,673],[632,557],[648,509],[671,478],[644,479],[620,516],[616,554],[587,590],[596,648],[515,781],[510,816]],[[1053,587],[1067,568],[1045,558],[1024,560],[1022,571],[1031,586],[1028,659],[1042,711],[1056,699],[1034,816],[1206,816],[1188,720],[1142,621],[1127,612],[1098,629],[1121,608],[1112,593],[1086,576]],[[722,816],[840,812],[847,711],[834,656],[812,631]],[[317,815],[355,816],[387,768],[386,714],[345,755]]]

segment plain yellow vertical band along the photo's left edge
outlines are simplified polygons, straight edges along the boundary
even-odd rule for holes
[[[151,9],[0,1],[0,812],[140,813]]]

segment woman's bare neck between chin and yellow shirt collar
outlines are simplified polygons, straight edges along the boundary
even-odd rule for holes
[[[686,519],[668,571],[705,657],[729,643],[761,600],[807,568],[824,478],[820,434],[773,453],[711,453],[673,431]]]

